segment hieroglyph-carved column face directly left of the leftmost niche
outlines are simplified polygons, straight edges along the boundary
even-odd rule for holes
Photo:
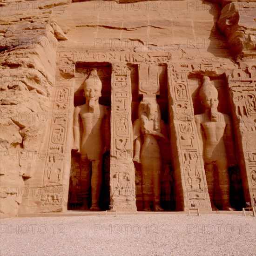
[[[56,86],[43,177],[43,188],[47,190],[47,197],[41,197],[42,211],[67,210],[70,148],[73,143],[70,136],[73,134],[73,82],[63,81]]]

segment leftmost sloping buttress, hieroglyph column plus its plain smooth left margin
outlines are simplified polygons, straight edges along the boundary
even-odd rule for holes
[[[57,76],[59,77],[59,76]],[[71,146],[73,143],[74,80],[56,81],[47,131],[36,152],[34,173],[26,187],[20,213],[67,210]]]

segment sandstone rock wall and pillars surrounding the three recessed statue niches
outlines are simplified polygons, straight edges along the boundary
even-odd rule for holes
[[[0,8],[2,216],[67,208],[73,101],[75,84],[80,79],[76,75],[78,62],[87,65],[106,62],[112,66],[111,102],[109,92],[102,93],[105,97],[102,101],[112,106],[111,131],[112,135],[116,133],[111,137],[109,182],[110,203],[115,209],[136,209],[131,119],[134,106],[140,102],[136,99],[138,74],[134,70],[142,63],[164,66],[168,70],[168,75],[159,74],[159,77],[165,77],[163,83],[169,101],[167,105],[161,103],[163,94],[158,96],[158,101],[162,109],[169,109],[164,110],[164,121],[169,126],[171,143],[176,139],[171,156],[175,167],[176,204],[179,202],[176,209],[187,209],[195,198],[205,201],[205,204],[198,203],[202,208],[209,208],[202,156],[196,153],[197,138],[196,135],[193,139],[188,137],[195,132],[193,115],[197,108],[193,107],[191,99],[195,95],[191,88],[202,75],[221,78],[231,90],[229,114],[235,127],[243,192],[245,200],[255,205],[254,1],[35,0],[5,1]],[[183,75],[181,80],[179,76]],[[121,78],[126,81],[128,91],[123,90],[120,95],[118,79]],[[177,84],[180,88],[175,88]],[[182,86],[187,93],[186,102],[175,94]],[[68,95],[67,102],[58,100],[60,94]],[[135,104],[132,101],[136,101]],[[62,108],[63,104],[68,108]],[[59,121],[52,118],[60,113]],[[116,115],[121,116],[118,122],[115,122]],[[181,119],[182,116],[185,119]],[[122,129],[116,127],[117,124],[127,127],[128,134],[118,135]],[[65,141],[58,139],[61,126],[67,132],[63,135]],[[50,141],[53,133],[55,142],[60,142],[58,145]],[[187,141],[193,144],[193,150],[189,151]],[[52,173],[46,161],[51,150],[56,149],[54,145],[64,147],[61,182],[59,167],[54,166]],[[187,162],[193,162],[195,155],[198,174],[189,179]],[[51,176],[53,174],[55,176]],[[199,186],[196,191],[202,192],[199,196],[191,189],[191,181],[196,177],[197,181],[200,177],[201,182],[200,186],[196,181],[193,183]],[[64,189],[62,200],[55,195],[55,190],[51,191],[56,186]],[[38,192],[40,188],[47,188],[43,200]]]

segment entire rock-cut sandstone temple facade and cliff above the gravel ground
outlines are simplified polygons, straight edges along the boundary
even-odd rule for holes
[[[256,2],[6,0],[1,216],[256,207]]]

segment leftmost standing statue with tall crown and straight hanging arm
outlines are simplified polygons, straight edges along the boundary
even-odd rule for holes
[[[108,147],[105,135],[107,108],[99,104],[101,80],[93,69],[84,81],[86,103],[74,110],[74,147],[81,154],[81,189],[85,191],[82,209],[88,209],[91,188],[92,206],[90,210],[100,210],[102,155]],[[82,125],[81,125],[82,124]],[[83,184],[84,183],[84,184]]]

